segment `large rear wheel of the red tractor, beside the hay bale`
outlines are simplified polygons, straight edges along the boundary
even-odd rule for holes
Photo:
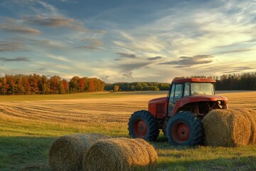
[[[203,143],[203,123],[194,113],[176,113],[167,122],[166,137],[172,145],[201,145]]]

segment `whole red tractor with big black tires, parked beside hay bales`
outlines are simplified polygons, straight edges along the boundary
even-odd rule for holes
[[[202,118],[214,109],[228,109],[228,98],[215,95],[215,80],[183,78],[172,81],[168,96],[149,100],[148,110],[134,112],[128,130],[132,138],[156,140],[159,130],[172,145],[200,145]]]

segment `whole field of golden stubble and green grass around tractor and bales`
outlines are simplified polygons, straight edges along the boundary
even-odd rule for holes
[[[229,108],[256,110],[256,92],[217,93],[228,98]],[[32,95],[33,100],[26,95],[1,97],[0,170],[49,170],[48,148],[60,135],[129,137],[130,115],[146,110],[148,100],[164,97],[167,92],[82,95]],[[256,170],[255,146],[172,147],[162,133],[151,144],[159,153],[156,170]]]

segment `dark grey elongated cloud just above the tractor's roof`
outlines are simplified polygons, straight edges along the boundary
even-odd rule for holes
[[[181,56],[178,61],[171,61],[165,63],[159,63],[161,65],[174,65],[176,68],[190,67],[200,64],[206,64],[213,62],[213,56],[198,55],[198,56]]]

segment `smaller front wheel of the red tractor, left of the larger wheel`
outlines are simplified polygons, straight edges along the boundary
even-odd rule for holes
[[[151,141],[156,140],[159,136],[158,121],[146,110],[139,110],[131,115],[128,130],[132,138],[143,138]]]

